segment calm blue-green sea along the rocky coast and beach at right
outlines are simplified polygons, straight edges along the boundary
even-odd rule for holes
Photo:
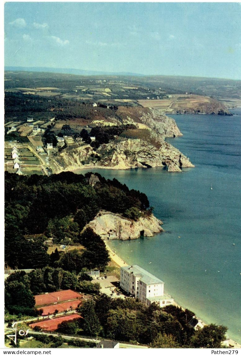
[[[241,342],[241,109],[232,113],[172,116],[184,136],[168,141],[195,168],[95,171],[145,192],[164,223],[155,237],[110,246],[162,279],[176,302],[204,322],[227,326]]]

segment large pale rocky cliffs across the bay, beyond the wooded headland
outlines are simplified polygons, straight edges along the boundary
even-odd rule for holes
[[[168,171],[181,171],[181,168],[194,166],[185,155],[165,141],[166,137],[182,135],[173,119],[152,109],[123,108],[123,114],[124,123],[136,126],[136,136],[117,137],[108,144],[101,144],[96,151],[89,144],[67,148],[54,157],[54,172],[94,166],[107,169],[167,166]]]

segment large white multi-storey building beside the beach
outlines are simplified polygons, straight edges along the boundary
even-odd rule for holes
[[[155,302],[164,307],[174,302],[171,296],[164,294],[164,282],[138,265],[120,268],[120,287],[147,306]]]

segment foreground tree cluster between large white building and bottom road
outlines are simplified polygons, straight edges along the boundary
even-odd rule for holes
[[[153,348],[220,348],[227,330],[210,324],[195,331],[189,324],[194,313],[189,310],[173,305],[147,307],[134,299],[111,299],[103,294],[85,301],[79,312],[83,318],[63,322],[58,332],[138,342]]]

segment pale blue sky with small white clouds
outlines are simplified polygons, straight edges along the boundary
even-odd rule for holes
[[[238,2],[6,2],[5,66],[241,79]]]

